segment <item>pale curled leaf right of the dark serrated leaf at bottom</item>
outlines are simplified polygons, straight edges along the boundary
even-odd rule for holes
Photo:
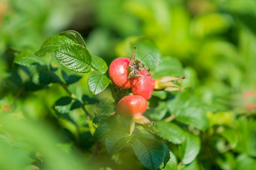
[[[179,146],[181,162],[191,163],[200,151],[200,138],[190,133],[186,134],[185,141]]]

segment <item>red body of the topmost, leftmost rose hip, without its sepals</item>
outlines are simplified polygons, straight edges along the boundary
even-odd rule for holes
[[[121,88],[131,88],[127,71],[129,63],[129,58],[117,58],[110,64],[109,77],[116,86]]]

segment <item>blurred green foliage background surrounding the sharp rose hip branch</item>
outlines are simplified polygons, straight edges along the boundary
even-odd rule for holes
[[[72,121],[57,115],[55,101],[68,94],[57,84],[28,89],[38,73],[13,63],[14,52],[34,53],[69,29],[108,64],[147,44],[138,57],[150,48],[159,63],[153,78],[185,75],[189,100],[205,108],[197,168],[255,169],[255,0],[1,0],[0,16],[0,169],[144,169],[131,151],[112,156],[96,144],[82,111],[70,113]],[[59,67],[51,55],[42,61]],[[64,67],[56,74],[61,70],[74,74]],[[88,74],[76,75],[82,78],[69,89],[77,97],[110,96],[109,89],[92,96]],[[151,108],[168,97],[154,95]],[[166,169],[175,169],[171,161]]]

